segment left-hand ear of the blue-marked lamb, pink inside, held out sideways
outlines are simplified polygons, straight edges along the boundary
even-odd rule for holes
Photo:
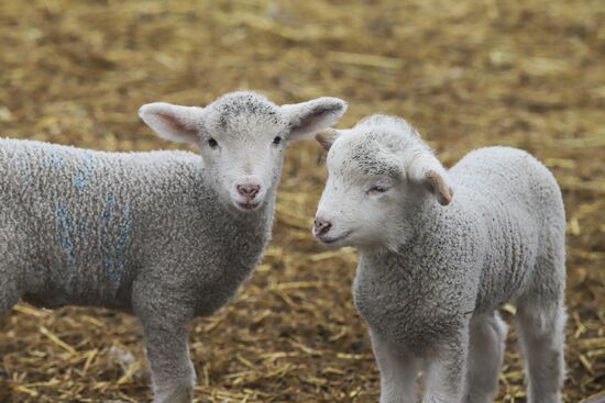
[[[147,103],[139,109],[139,116],[162,138],[179,143],[199,141],[202,108],[180,107],[166,102]]]

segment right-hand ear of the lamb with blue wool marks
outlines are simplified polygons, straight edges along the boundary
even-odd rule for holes
[[[322,97],[311,101],[283,105],[289,123],[288,141],[311,139],[317,131],[336,124],[346,111],[346,102],[338,98]]]

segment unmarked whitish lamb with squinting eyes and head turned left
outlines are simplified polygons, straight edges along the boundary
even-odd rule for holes
[[[517,305],[530,403],[561,402],[565,214],[550,171],[526,152],[473,150],[446,170],[403,119],[328,130],[329,177],[314,234],[359,248],[354,302],[381,372],[381,403],[494,399]]]

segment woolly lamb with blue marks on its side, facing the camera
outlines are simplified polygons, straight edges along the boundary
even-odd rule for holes
[[[154,402],[190,402],[188,321],[223,305],[261,259],[286,143],[345,109],[336,98],[278,107],[254,92],[140,109],[156,134],[201,156],[0,139],[0,314],[19,299],[132,313]]]

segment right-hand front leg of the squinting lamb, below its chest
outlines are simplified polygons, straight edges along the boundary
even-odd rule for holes
[[[438,347],[427,360],[422,403],[460,403],[466,381],[468,326]]]

